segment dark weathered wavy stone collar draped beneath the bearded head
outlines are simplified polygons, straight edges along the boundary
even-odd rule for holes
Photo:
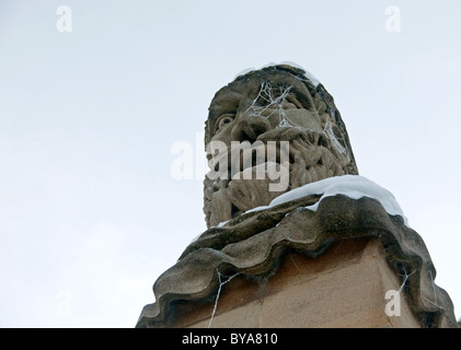
[[[311,203],[315,198],[303,200]],[[212,301],[219,287],[218,272],[264,281],[277,271],[287,250],[315,257],[333,242],[369,237],[382,244],[394,273],[406,273],[406,303],[420,327],[457,327],[449,295],[434,282],[436,270],[423,240],[403,224],[401,217],[389,215],[379,201],[368,197],[327,197],[315,212],[301,202],[243,214],[222,228],[206,231],[157,280],[157,302],[145,307],[137,326],[172,326],[175,305]],[[235,237],[235,233],[240,235]],[[370,303],[372,298],[364,302]],[[324,325],[333,324],[325,320]]]

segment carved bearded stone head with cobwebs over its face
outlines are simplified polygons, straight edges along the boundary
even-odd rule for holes
[[[274,66],[237,78],[215,95],[205,129],[208,159],[219,158],[215,144],[227,151],[220,155],[227,161],[219,164],[220,175],[210,172],[215,176],[207,176],[204,182],[208,228],[266,206],[275,197],[302,185],[358,174],[333,98],[298,68]],[[270,158],[267,145],[274,141],[276,151]],[[281,141],[287,141],[286,147]],[[254,145],[253,159],[250,155],[245,160],[240,151],[232,152],[235,144]],[[260,159],[255,161],[255,149],[261,148],[266,152],[257,153]],[[227,164],[226,168],[222,164]],[[269,190],[269,185],[277,183],[270,173],[263,175],[264,178],[251,176],[262,168],[266,174],[268,170],[276,171],[280,175],[278,183],[286,180],[286,186]]]

